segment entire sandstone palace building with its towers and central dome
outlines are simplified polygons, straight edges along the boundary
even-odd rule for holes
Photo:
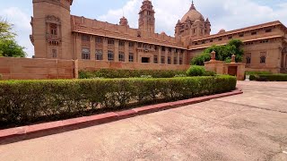
[[[238,38],[244,42],[248,70],[287,72],[287,28],[280,21],[211,35],[212,24],[192,3],[175,24],[175,37],[170,37],[155,33],[150,0],[143,0],[138,29],[130,28],[125,17],[111,24],[71,15],[72,4],[73,0],[33,0],[30,40],[35,58],[77,60],[86,70],[183,70],[205,48]]]

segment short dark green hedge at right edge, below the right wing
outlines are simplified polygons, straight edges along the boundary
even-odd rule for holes
[[[287,81],[287,74],[257,74],[257,75],[250,75],[249,80],[257,80],[257,81]]]

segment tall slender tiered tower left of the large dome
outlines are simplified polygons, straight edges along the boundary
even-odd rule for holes
[[[140,16],[138,19],[139,29],[154,33],[155,18],[151,1],[149,0],[143,1],[143,5],[141,7],[139,16]]]

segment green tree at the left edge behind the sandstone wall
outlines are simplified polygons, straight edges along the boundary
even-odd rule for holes
[[[13,25],[0,17],[0,56],[25,57],[25,47],[21,47],[15,40]]]

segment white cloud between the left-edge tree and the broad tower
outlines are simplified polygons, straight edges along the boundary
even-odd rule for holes
[[[18,35],[16,40],[22,47],[26,47],[25,51],[28,57],[34,55],[34,47],[29,38],[31,33],[30,16],[16,7],[4,9],[0,15],[13,24],[13,31]]]

